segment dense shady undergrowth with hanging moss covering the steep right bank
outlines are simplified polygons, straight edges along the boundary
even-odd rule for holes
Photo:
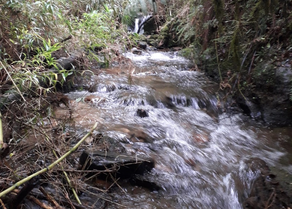
[[[271,59],[277,65],[292,54],[290,1],[175,2],[164,26],[168,38],[230,92],[256,86],[257,65]]]

